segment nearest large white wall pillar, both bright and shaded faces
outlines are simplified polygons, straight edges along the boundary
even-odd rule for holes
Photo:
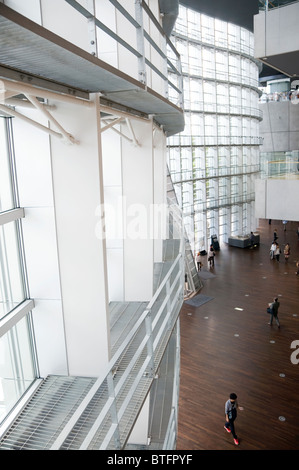
[[[96,105],[51,104],[78,144],[13,121],[40,372],[98,376],[109,359],[105,240],[96,233],[103,203],[100,113]],[[47,125],[39,112],[26,114]]]

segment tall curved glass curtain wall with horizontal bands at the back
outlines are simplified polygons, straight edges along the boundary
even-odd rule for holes
[[[255,229],[259,172],[258,65],[250,31],[180,6],[185,129],[168,138],[168,165],[194,251],[211,236]]]

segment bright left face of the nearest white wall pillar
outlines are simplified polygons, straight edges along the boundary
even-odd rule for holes
[[[20,111],[46,125],[37,111]],[[67,374],[49,136],[17,118],[13,131],[40,374]]]

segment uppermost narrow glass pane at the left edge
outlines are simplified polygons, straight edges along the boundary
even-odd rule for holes
[[[6,119],[0,118],[0,212],[14,208]]]

